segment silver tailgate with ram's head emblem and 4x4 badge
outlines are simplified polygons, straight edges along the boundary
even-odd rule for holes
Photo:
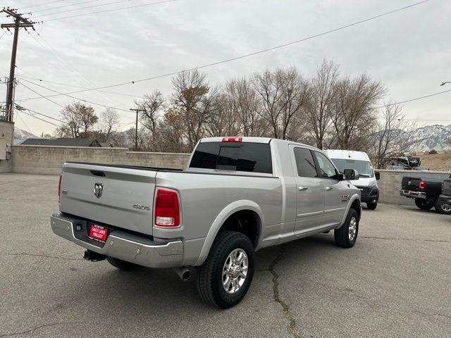
[[[65,163],[60,211],[152,234],[156,173],[145,168]],[[94,193],[96,185],[97,195]]]

